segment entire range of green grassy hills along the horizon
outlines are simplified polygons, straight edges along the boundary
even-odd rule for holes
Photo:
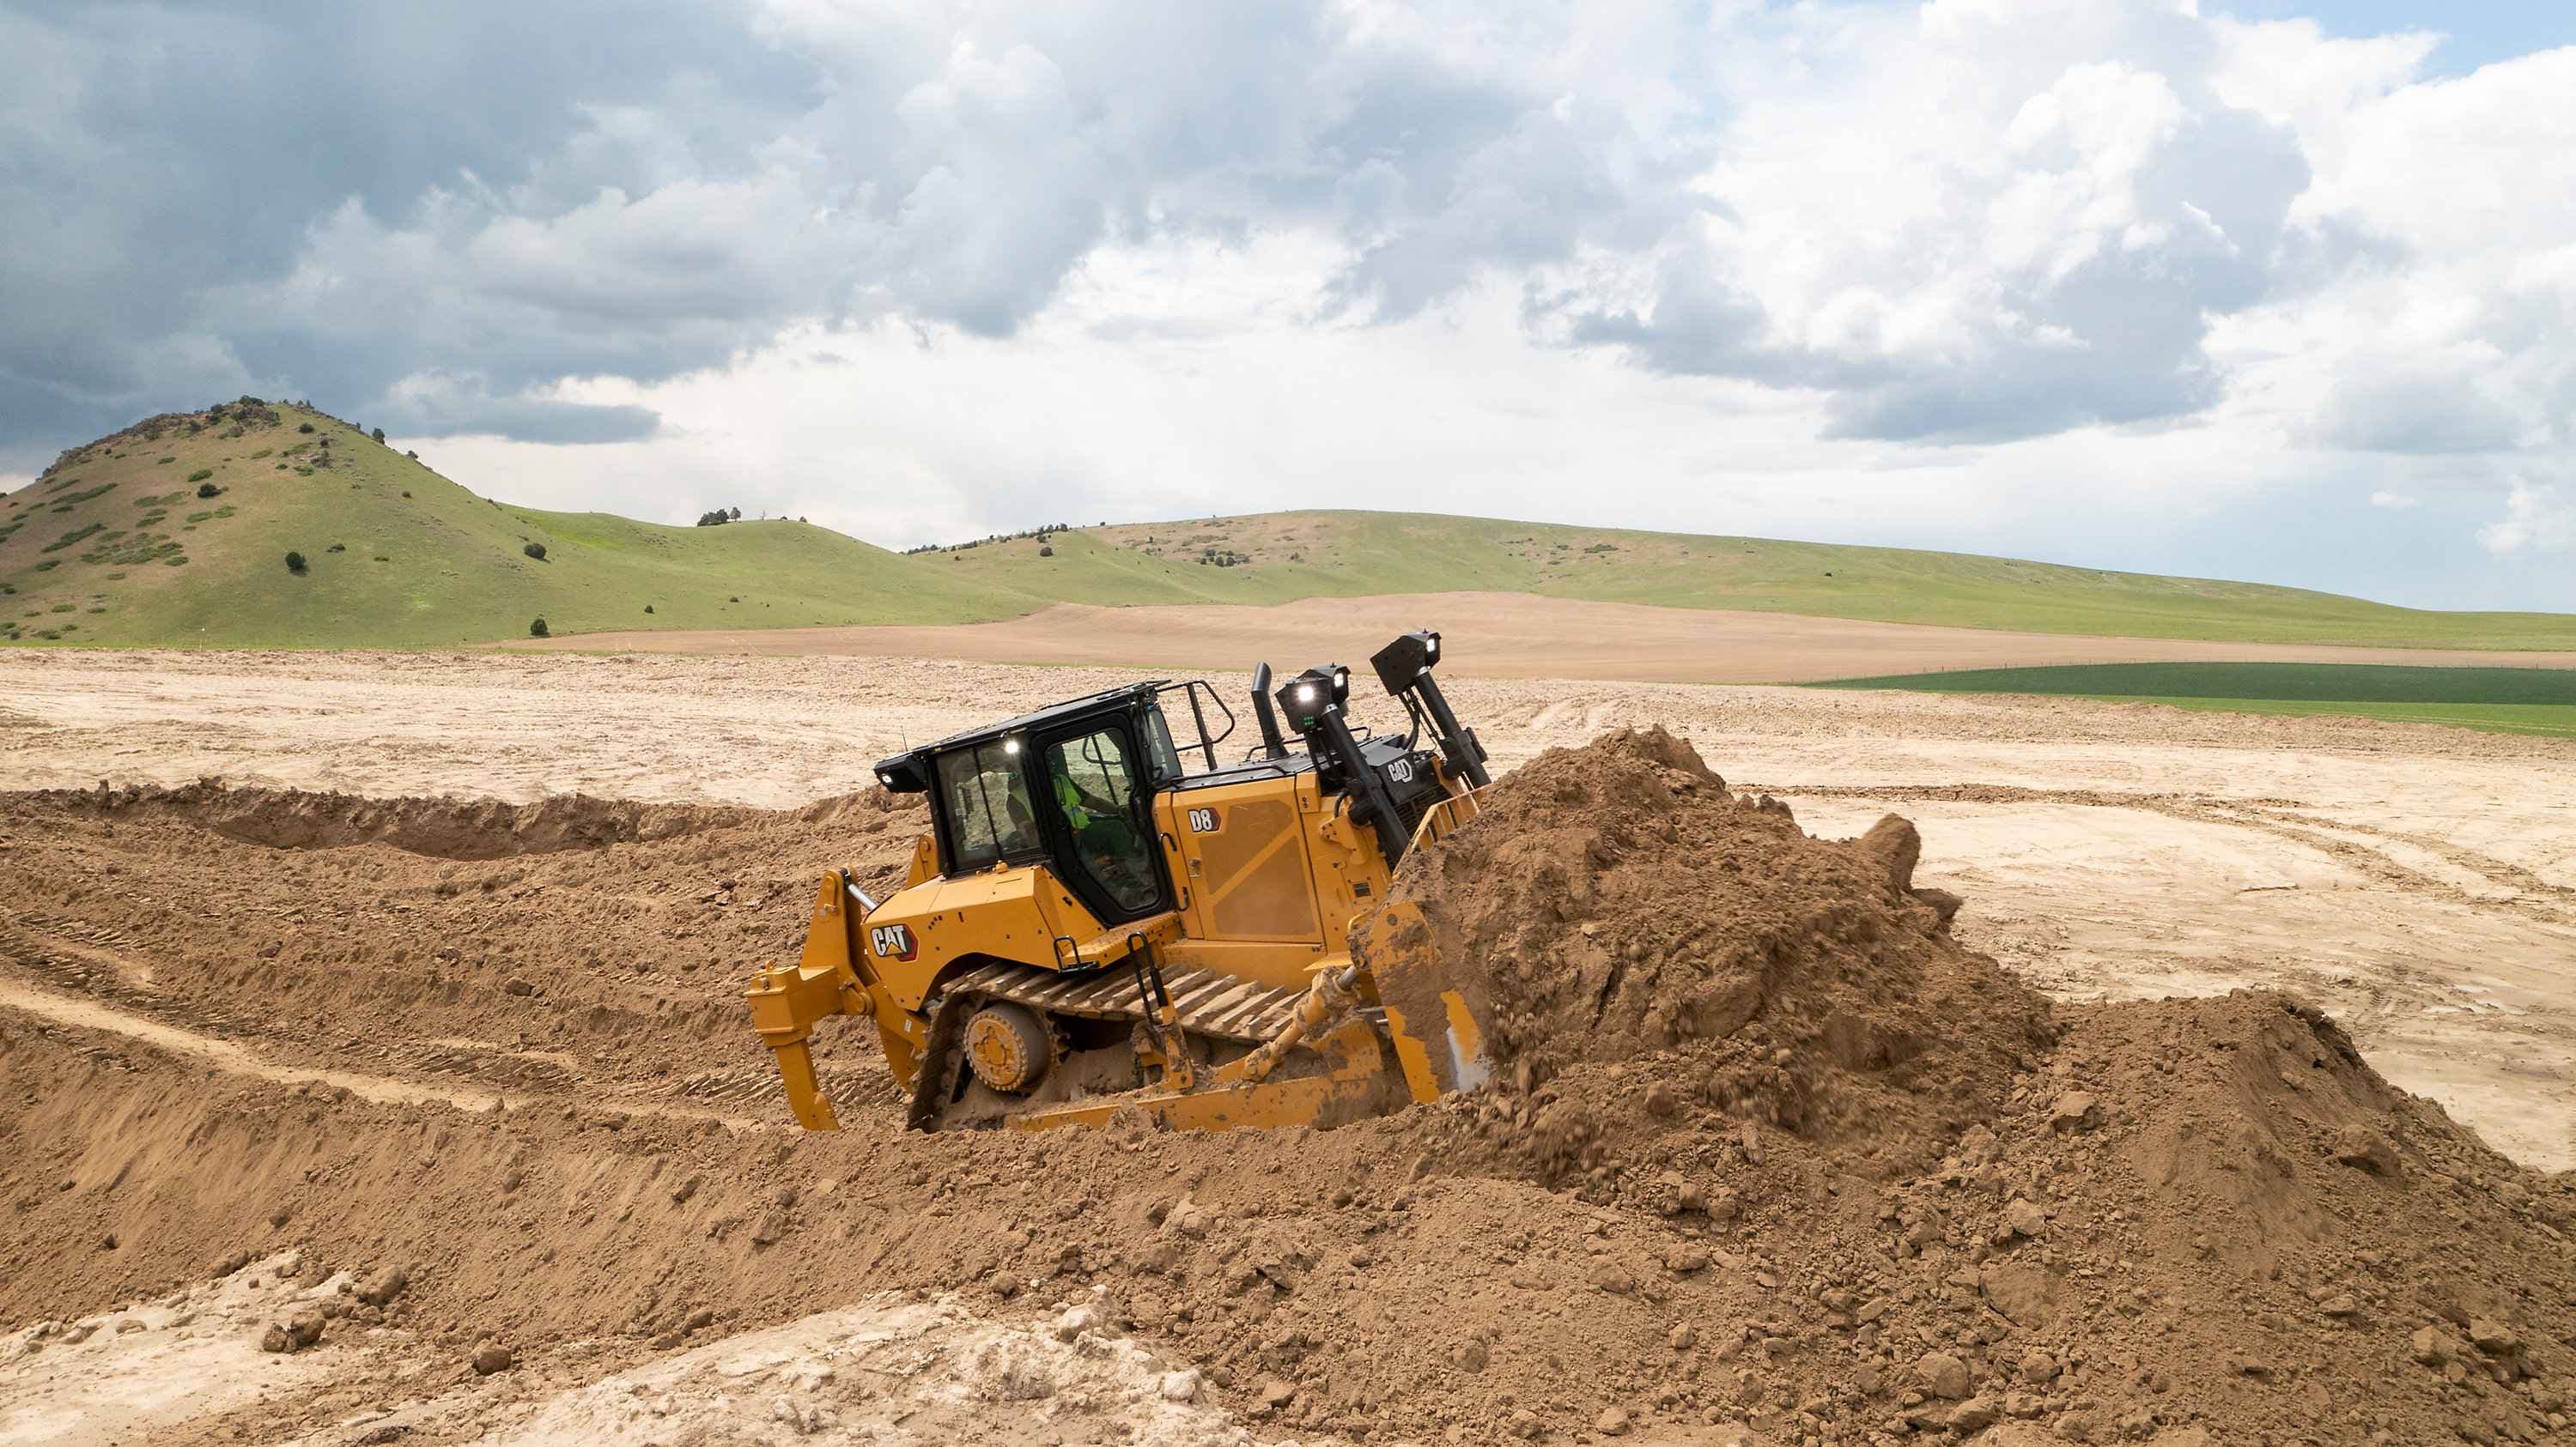
[[[0,497],[0,641],[18,644],[433,646],[518,639],[531,618],[564,636],[1450,590],[2133,639],[2576,649],[2576,615],[2561,613],[1422,512],[1262,512],[889,554],[786,520],[667,528],[507,507],[348,422],[247,399],[137,422]]]

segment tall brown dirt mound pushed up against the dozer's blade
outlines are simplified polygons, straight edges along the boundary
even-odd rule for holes
[[[1919,855],[1896,816],[1814,839],[1682,739],[1623,729],[1525,765],[1388,901],[1468,966],[1525,1097],[1497,1133],[1515,1151],[1602,1169],[1662,1123],[1757,1120],[1891,1174],[1991,1117],[2053,1038],[2038,991],[1950,940],[1958,899],[1914,888]]]

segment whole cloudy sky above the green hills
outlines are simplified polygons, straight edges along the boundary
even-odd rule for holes
[[[2463,18],[2465,13],[2465,18]],[[0,0],[0,484],[1406,507],[2576,608],[2576,5]]]

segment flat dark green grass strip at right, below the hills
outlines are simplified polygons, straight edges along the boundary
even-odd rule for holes
[[[2352,713],[2576,739],[2576,669],[2403,664],[2061,664],[1847,677],[1811,687],[2112,698],[2228,713]]]

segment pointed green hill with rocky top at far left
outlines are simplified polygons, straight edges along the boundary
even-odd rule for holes
[[[0,636],[422,646],[526,636],[533,618],[567,633],[1030,608],[806,523],[665,528],[507,507],[299,407],[155,422],[0,499]],[[289,551],[304,572],[289,572]]]

